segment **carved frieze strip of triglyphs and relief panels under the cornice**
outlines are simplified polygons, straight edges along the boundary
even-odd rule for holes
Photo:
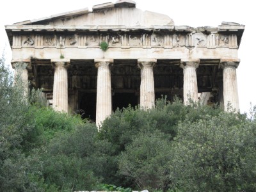
[[[108,42],[110,47],[164,47],[172,49],[186,46],[188,49],[195,47],[207,47],[208,49],[216,49],[216,47],[229,47],[230,49],[237,49],[237,35],[225,35],[219,33],[102,33],[95,34],[74,34],[74,35],[49,35],[35,34],[35,35],[13,35],[13,47],[20,49],[21,47],[99,47],[100,42]]]

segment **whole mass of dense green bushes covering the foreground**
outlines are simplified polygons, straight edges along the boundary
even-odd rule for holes
[[[178,99],[97,131],[24,98],[0,60],[0,191],[255,191],[256,120]],[[256,109],[256,108],[255,108]],[[118,186],[123,186],[120,188]]]

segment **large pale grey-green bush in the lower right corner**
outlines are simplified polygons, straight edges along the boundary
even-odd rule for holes
[[[179,124],[170,178],[184,191],[255,191],[255,125],[220,113]]]

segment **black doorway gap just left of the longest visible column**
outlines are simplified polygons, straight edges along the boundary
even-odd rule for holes
[[[96,93],[79,94],[79,110],[83,109],[82,118],[88,118],[95,122],[96,119]]]

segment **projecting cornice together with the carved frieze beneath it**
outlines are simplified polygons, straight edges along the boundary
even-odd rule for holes
[[[244,26],[6,26],[13,49],[26,47],[228,47],[237,49]]]

